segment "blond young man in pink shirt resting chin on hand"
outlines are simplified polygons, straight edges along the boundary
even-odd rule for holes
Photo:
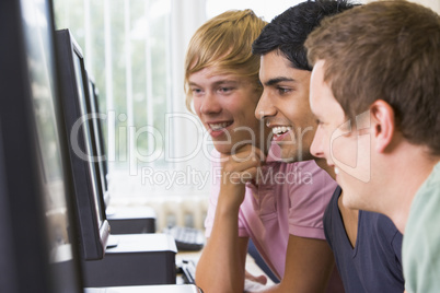
[[[252,43],[265,25],[251,10],[224,12],[200,26],[186,55],[187,105],[212,139],[221,174],[196,271],[209,293],[243,292],[250,238],[281,280],[264,292],[325,292],[334,268],[322,226],[334,180],[313,160],[277,161],[270,130],[254,115],[262,86]]]

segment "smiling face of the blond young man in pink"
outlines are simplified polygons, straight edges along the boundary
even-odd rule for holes
[[[205,68],[189,77],[194,108],[220,153],[260,144],[265,127],[255,118],[259,92],[251,81]],[[262,129],[263,128],[263,129]]]

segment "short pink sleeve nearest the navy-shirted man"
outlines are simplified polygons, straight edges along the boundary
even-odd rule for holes
[[[289,164],[296,180],[289,184],[289,233],[325,239],[323,216],[337,184],[314,161]]]

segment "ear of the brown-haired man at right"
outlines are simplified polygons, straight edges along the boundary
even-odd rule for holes
[[[371,136],[374,139],[374,149],[383,153],[391,144],[394,131],[394,109],[383,99],[378,99],[370,106]]]

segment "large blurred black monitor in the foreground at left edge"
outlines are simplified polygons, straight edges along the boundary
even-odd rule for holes
[[[82,292],[51,11],[0,2],[0,292]]]

